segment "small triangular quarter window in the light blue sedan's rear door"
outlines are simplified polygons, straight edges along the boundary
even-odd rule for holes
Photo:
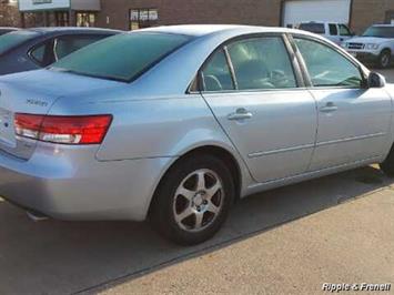
[[[203,89],[205,91],[233,90],[230,68],[223,50],[218,51],[202,71]]]

